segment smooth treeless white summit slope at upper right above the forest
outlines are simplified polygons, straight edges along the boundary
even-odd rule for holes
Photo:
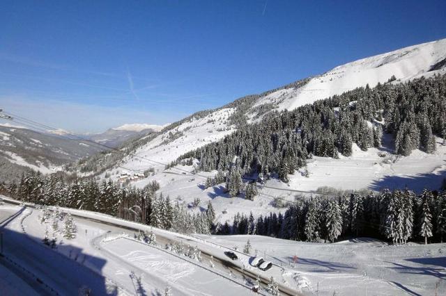
[[[445,58],[446,39],[405,47],[335,67],[310,79],[302,88],[272,92],[257,101],[256,106],[275,103],[279,105],[279,110],[293,110],[367,83],[373,88],[378,83],[387,82],[392,75],[397,79],[396,82],[402,82],[420,76],[446,73],[446,67],[435,67]]]

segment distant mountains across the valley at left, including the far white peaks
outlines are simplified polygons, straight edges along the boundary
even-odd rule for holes
[[[74,135],[63,129],[41,133],[24,126],[0,124],[0,181],[17,180],[22,172],[43,174],[63,170],[63,165],[97,154],[107,147],[160,131],[153,124],[124,124],[103,133]],[[84,141],[79,139],[85,139]],[[95,145],[90,142],[98,142]]]

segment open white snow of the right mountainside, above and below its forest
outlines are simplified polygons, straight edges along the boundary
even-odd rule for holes
[[[385,83],[392,75],[399,83],[418,76],[430,76],[444,73],[440,68],[441,61],[446,58],[446,39],[426,44],[415,45],[405,49],[392,51],[371,58],[364,58],[332,69],[321,76],[314,77],[300,84],[267,92],[256,98],[247,111],[251,121],[260,120],[255,114],[262,104],[276,105],[279,109],[295,108],[302,104],[312,103],[333,94],[340,94],[367,83],[371,87],[376,83]],[[436,66],[437,65],[437,66]],[[444,66],[444,65],[443,65]],[[434,69],[430,71],[430,69]],[[132,181],[132,185],[143,188],[150,181],[160,183],[164,196],[178,200],[185,206],[195,198],[201,199],[201,208],[206,208],[210,201],[217,212],[217,220],[231,222],[237,212],[254,215],[266,215],[282,211],[274,207],[272,199],[281,197],[293,200],[299,192],[287,190],[315,191],[323,186],[342,190],[380,190],[382,188],[406,188],[419,192],[423,188],[437,190],[446,177],[446,146],[437,139],[437,149],[433,154],[415,150],[410,156],[393,154],[394,145],[390,135],[386,135],[383,147],[361,151],[353,145],[353,155],[340,156],[339,159],[314,157],[307,163],[309,178],[300,172],[290,175],[288,184],[271,179],[266,182],[269,188],[261,188],[254,202],[240,198],[228,198],[224,193],[224,184],[213,188],[204,188],[206,178],[192,176],[182,170],[191,172],[192,166],[178,165],[177,170],[164,170],[160,163],[169,163],[178,156],[192,149],[197,149],[209,142],[224,138],[236,130],[231,126],[229,117],[236,113],[236,107],[220,108],[206,113],[205,116],[191,117],[180,122],[172,129],[165,129],[154,140],[139,147],[134,155],[124,158],[121,167],[115,167],[112,173],[122,171],[122,167],[130,170],[144,171],[153,167],[155,174],[146,179]],[[179,170],[178,170],[179,169]],[[216,172],[201,172],[201,176],[213,176]],[[104,175],[102,175],[104,176]],[[112,179],[118,179],[112,174]],[[279,188],[273,189],[273,188]],[[198,211],[191,209],[190,211]]]

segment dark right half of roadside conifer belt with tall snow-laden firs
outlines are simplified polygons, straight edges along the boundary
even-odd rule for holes
[[[257,234],[307,242],[371,237],[404,244],[408,240],[443,242],[446,238],[446,191],[384,190],[380,195],[298,199],[284,214],[254,218],[238,213],[219,234]]]

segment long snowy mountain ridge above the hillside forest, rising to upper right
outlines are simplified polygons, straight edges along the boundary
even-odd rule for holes
[[[318,99],[341,94],[354,88],[378,83],[401,83],[420,76],[446,73],[446,39],[405,47],[387,54],[362,58],[340,65],[324,74],[302,79],[276,90],[247,96],[215,110],[195,113],[164,128],[156,138],[137,147],[121,165],[133,170],[156,166],[142,161],[174,161],[187,151],[224,138],[236,130],[240,118],[247,122],[261,120],[271,110],[292,110]],[[241,121],[243,124],[243,120]]]

